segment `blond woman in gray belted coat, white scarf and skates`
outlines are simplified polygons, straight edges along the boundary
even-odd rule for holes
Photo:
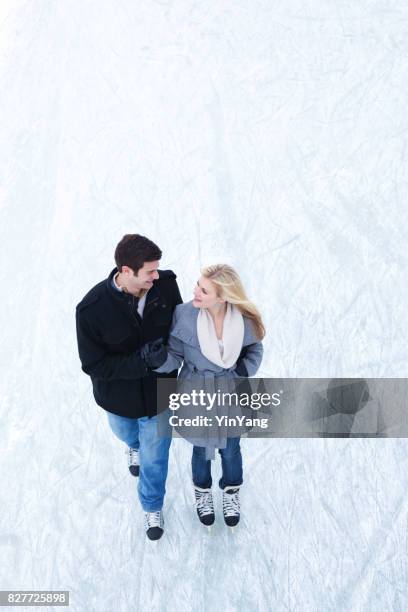
[[[179,381],[208,383],[212,379],[215,389],[214,380],[219,382],[220,377],[253,376],[257,372],[264,335],[261,315],[248,300],[235,270],[226,264],[208,266],[201,271],[194,299],[176,307],[167,361],[156,371],[170,372],[183,363]],[[240,438],[226,437],[218,443],[208,439],[204,444],[194,444],[192,455],[198,517],[204,525],[212,525],[215,520],[210,447],[216,446],[222,464],[219,486],[224,520],[233,527],[240,519],[239,488],[243,482]]]

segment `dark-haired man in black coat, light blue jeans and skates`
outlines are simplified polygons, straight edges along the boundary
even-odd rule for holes
[[[158,270],[162,252],[138,234],[122,238],[116,268],[76,308],[82,370],[91,377],[96,403],[107,411],[113,433],[128,446],[128,465],[151,540],[163,534],[168,437],[157,432],[157,378],[167,357],[173,311],[182,302],[171,270]],[[155,342],[156,341],[156,342]],[[140,472],[139,472],[140,456]]]

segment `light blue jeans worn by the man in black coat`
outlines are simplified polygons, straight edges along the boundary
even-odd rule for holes
[[[159,417],[129,419],[111,412],[107,414],[115,436],[127,446],[139,450],[140,473],[137,490],[143,510],[145,512],[161,510],[166,492],[171,429],[166,429],[168,437],[159,437],[157,427],[158,419],[165,419],[166,416],[168,419],[168,415],[162,413]]]

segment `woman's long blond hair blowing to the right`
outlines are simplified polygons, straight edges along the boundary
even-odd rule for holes
[[[201,274],[214,283],[218,297],[230,304],[235,304],[243,316],[251,319],[256,337],[262,340],[266,332],[261,314],[255,304],[248,299],[242,281],[234,268],[227,264],[214,264],[203,268]]]

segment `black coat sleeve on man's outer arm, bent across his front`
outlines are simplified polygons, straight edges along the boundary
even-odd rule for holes
[[[149,369],[139,351],[130,355],[109,353],[79,309],[76,311],[76,329],[82,370],[92,378],[133,380],[148,376]]]

